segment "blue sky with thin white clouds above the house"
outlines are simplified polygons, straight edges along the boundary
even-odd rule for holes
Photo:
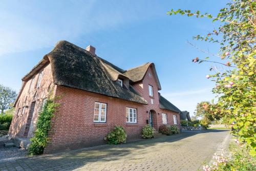
[[[129,69],[154,62],[160,93],[180,110],[192,114],[197,102],[211,100],[214,82],[205,78],[209,63],[192,58],[218,47],[194,41],[218,27],[207,18],[168,16],[174,9],[216,15],[227,1],[2,1],[0,6],[0,84],[18,91],[21,78],[59,40],[86,48],[114,65]]]

